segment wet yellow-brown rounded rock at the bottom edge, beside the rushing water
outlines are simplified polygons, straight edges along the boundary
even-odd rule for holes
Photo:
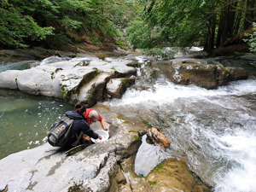
[[[181,160],[168,159],[156,166],[148,177],[137,176],[133,171],[134,156],[127,158],[121,163],[121,170],[125,174],[126,182],[119,183],[120,192],[139,191],[204,191],[211,189],[202,183]]]

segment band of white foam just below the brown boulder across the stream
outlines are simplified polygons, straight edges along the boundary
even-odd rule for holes
[[[159,105],[174,102],[177,98],[204,96],[244,95],[256,92],[256,80],[241,80],[221,86],[217,90],[207,90],[195,85],[154,84],[148,90],[127,90],[121,100],[113,105],[137,104],[142,102],[157,102]]]

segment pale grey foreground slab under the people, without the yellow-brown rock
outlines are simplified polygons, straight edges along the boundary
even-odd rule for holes
[[[92,129],[100,126],[95,124]],[[115,166],[135,154],[141,143],[134,138],[137,131],[130,129],[130,125],[112,125],[108,141],[92,144],[71,156],[48,143],[10,154],[0,160],[0,189],[8,184],[9,191],[108,191]],[[137,128],[133,125],[132,129]]]

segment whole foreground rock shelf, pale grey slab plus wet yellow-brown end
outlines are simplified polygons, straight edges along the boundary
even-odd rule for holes
[[[108,117],[108,122],[120,118],[101,105],[97,105],[96,110]],[[100,125],[92,128],[100,129]],[[180,160],[167,160],[148,177],[137,176],[134,160],[144,128],[143,123],[134,124],[129,120],[113,122],[108,141],[92,144],[71,156],[48,143],[11,154],[0,160],[0,172],[4,176],[0,189],[8,185],[9,191],[210,190]]]

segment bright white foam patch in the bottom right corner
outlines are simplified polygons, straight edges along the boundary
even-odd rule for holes
[[[256,136],[255,131],[237,132],[235,136],[228,135],[220,138],[227,143],[224,155],[234,162],[232,169],[224,173],[224,177],[216,177],[215,191],[221,192],[253,192],[256,190]],[[221,144],[218,145],[222,147]]]

